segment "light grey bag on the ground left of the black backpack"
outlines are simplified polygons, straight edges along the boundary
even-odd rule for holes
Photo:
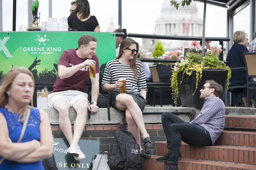
[[[93,160],[93,169],[92,170],[110,170],[108,166],[108,151],[105,151],[103,155],[94,155]]]

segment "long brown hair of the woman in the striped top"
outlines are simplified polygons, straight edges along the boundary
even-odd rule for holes
[[[119,49],[119,54],[118,56],[116,57],[116,59],[119,59],[120,57],[122,57],[122,54],[123,54],[123,50],[130,47],[132,44],[135,44],[136,45],[136,48],[139,49],[140,48],[140,45],[138,42],[134,41],[133,39],[131,38],[125,38],[124,40],[122,40],[121,44],[120,44],[120,49]],[[137,65],[136,65],[136,60],[137,60],[137,56],[138,56],[139,53],[137,53],[136,55],[134,55],[134,58],[131,59],[131,62],[130,62],[130,68],[131,70],[133,71],[133,74],[134,74],[134,78],[137,80],[138,78],[138,75],[137,75]]]

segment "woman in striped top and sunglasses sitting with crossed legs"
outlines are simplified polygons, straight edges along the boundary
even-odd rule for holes
[[[141,156],[149,158],[150,153],[143,150],[140,144],[141,131],[144,146],[147,148],[152,145],[142,115],[146,103],[147,84],[143,65],[137,60],[138,51],[138,42],[131,38],[122,40],[118,56],[106,65],[102,88],[110,93],[111,106],[119,111],[125,111],[128,130],[140,145]],[[126,79],[125,94],[120,94],[123,83],[119,79],[122,78]]]

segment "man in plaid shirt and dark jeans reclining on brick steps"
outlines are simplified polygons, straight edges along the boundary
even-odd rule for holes
[[[170,112],[162,114],[168,152],[156,161],[167,161],[168,165],[164,170],[178,170],[178,160],[182,159],[179,153],[181,140],[192,146],[210,146],[224,129],[225,105],[219,98],[223,93],[222,86],[213,80],[207,80],[200,93],[200,98],[204,99],[204,106],[201,113],[191,122],[186,123]]]

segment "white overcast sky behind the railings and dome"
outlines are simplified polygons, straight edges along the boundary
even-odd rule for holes
[[[88,0],[91,15],[95,15],[100,31],[106,31],[111,19],[118,28],[118,0]],[[122,28],[128,33],[154,34],[155,22],[160,17],[164,0],[122,0]],[[68,17],[71,0],[52,0],[52,17]],[[17,0],[16,31],[28,26],[28,0]],[[39,0],[41,22],[49,16],[49,1]],[[204,3],[196,3],[198,17],[203,18]],[[170,8],[174,8],[170,6]],[[29,21],[30,22],[30,21]],[[250,6],[234,17],[234,31],[243,30],[250,35]],[[40,25],[39,25],[40,26]],[[12,1],[3,0],[3,31],[12,31]],[[114,31],[114,30],[113,30]],[[254,30],[253,30],[254,31]],[[252,32],[253,32],[252,31]],[[207,4],[206,37],[227,37],[227,8]],[[250,36],[249,36],[250,37]],[[141,39],[137,39],[141,43]]]

